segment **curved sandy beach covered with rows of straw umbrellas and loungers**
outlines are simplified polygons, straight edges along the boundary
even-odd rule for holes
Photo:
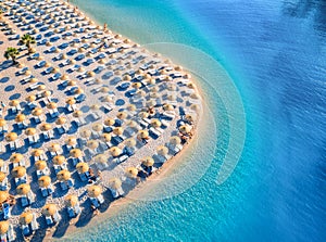
[[[9,58],[0,68],[2,204],[14,196],[8,221],[15,237],[22,239],[20,217],[28,212],[39,225],[28,238],[61,238],[91,225],[93,213],[114,214],[135,187],[168,173],[196,137],[201,94],[181,66],[66,2],[2,7],[0,50],[20,51],[17,64]],[[30,53],[18,44],[25,34],[36,41]],[[80,205],[73,218],[70,195],[77,198],[72,207]],[[23,206],[22,198],[29,204]],[[55,204],[48,216],[47,204]]]

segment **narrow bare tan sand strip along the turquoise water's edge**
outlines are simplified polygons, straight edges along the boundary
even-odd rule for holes
[[[59,1],[61,4],[63,3],[63,1]],[[72,3],[70,3],[70,5],[73,5]],[[74,7],[74,5],[73,5]],[[78,12],[78,15],[79,16],[87,16],[84,12],[80,12],[80,10],[79,10],[79,12]],[[115,34],[113,34],[113,35],[115,35]],[[122,39],[125,39],[125,38],[122,38]],[[135,42],[134,41],[130,41],[130,44],[135,44]],[[151,53],[151,52],[150,52]],[[171,62],[170,62],[171,63]],[[173,66],[173,64],[171,63],[170,65],[172,65]],[[11,67],[11,68],[15,68],[15,67]],[[184,71],[181,71],[183,73],[186,73],[186,72],[184,72]],[[190,78],[192,81],[195,80],[195,78]],[[203,95],[202,95],[202,93],[201,93],[201,91],[199,90],[199,85],[198,85],[198,82],[195,80],[193,82],[196,82],[196,86],[195,86],[195,90],[193,90],[193,92],[196,93],[196,94],[199,94],[201,98],[200,98],[200,104],[202,105],[203,104]],[[164,165],[162,166],[162,168],[160,168],[160,173],[159,174],[156,174],[156,173],[154,173],[154,174],[152,174],[143,183],[148,183],[148,182],[151,182],[152,180],[154,180],[155,178],[162,178],[162,177],[164,177],[164,176],[166,176],[167,174],[168,174],[168,171],[171,171],[174,167],[175,167],[175,165],[176,165],[176,160],[178,160],[178,158],[181,158],[183,156],[185,156],[185,154],[187,153],[187,151],[189,150],[189,147],[191,145],[191,144],[195,144],[196,142],[196,139],[197,139],[197,136],[198,136],[198,124],[199,124],[199,120],[203,117],[202,116],[202,112],[201,112],[201,114],[199,115],[198,114],[198,112],[197,112],[197,115],[199,116],[198,117],[198,119],[197,119],[197,122],[195,123],[195,126],[193,126],[193,130],[195,130],[195,136],[191,138],[191,140],[190,140],[190,143],[189,144],[186,144],[185,147],[184,147],[184,149],[176,155],[176,156],[173,156],[172,158],[170,158],[166,163],[164,163]],[[166,140],[165,140],[166,141]],[[141,182],[141,184],[139,186],[139,184],[137,184],[136,186],[136,188],[133,188],[131,190],[130,190],[130,193],[137,193],[137,190],[138,190],[138,187],[142,187],[142,182]],[[140,188],[141,189],[141,188]],[[122,209],[123,207],[123,205],[127,205],[127,204],[129,204],[129,203],[131,203],[133,201],[131,200],[129,200],[128,198],[121,198],[121,199],[117,199],[117,200],[115,200],[115,201],[113,201],[112,203],[110,203],[110,205],[112,205],[112,209],[106,209],[105,212],[103,212],[103,213],[100,213],[100,215],[98,216],[98,217],[100,217],[100,218],[104,218],[104,217],[106,217],[108,218],[108,214],[109,214],[109,212],[110,213],[112,213],[113,215],[115,214],[115,213],[117,213],[120,209]],[[118,207],[120,206],[120,207]],[[112,216],[113,216],[112,215]],[[109,216],[110,217],[110,216]],[[95,219],[91,219],[90,221],[89,221],[89,224],[87,225],[87,226],[85,226],[86,228],[87,227],[89,227],[89,226],[91,226],[93,222],[96,222],[95,221]],[[55,237],[53,238],[53,234],[52,234],[52,232],[53,232],[53,229],[54,229],[55,227],[53,227],[53,228],[51,228],[50,230],[48,230],[47,229],[47,231],[50,231],[48,234],[46,234],[46,237],[45,237],[45,239],[57,239]],[[76,230],[78,230],[76,227],[74,227],[74,226],[68,226],[68,228],[66,229],[66,231],[65,231],[65,233],[64,233],[64,235],[70,235],[70,233],[73,233],[73,232],[75,232]]]

